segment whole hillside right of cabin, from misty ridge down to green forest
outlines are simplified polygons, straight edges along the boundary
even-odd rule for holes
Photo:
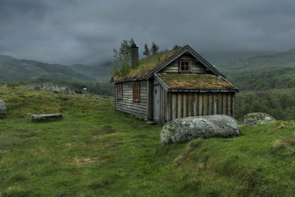
[[[295,49],[217,68],[240,89],[236,96],[237,119],[255,111],[280,120],[295,119]]]

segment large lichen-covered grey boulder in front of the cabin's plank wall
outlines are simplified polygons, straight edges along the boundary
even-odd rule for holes
[[[199,137],[235,137],[239,134],[236,120],[227,115],[187,117],[164,124],[161,132],[161,143],[165,145]]]

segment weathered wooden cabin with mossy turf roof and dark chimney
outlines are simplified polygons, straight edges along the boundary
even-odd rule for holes
[[[138,60],[130,48],[131,71],[114,75],[115,110],[159,124],[189,116],[234,117],[239,91],[189,45]]]

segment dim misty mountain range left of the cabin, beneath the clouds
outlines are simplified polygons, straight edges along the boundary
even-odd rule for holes
[[[38,77],[66,80],[108,81],[112,66],[47,64],[32,60],[17,60],[0,55],[0,81],[26,81]]]

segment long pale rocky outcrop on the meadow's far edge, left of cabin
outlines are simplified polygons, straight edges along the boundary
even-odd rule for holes
[[[52,83],[45,83],[40,84],[37,86],[26,86],[27,90],[30,91],[45,91],[45,92],[56,92],[56,93],[63,93],[68,95],[75,94],[75,91],[73,88],[63,85],[56,85]]]

